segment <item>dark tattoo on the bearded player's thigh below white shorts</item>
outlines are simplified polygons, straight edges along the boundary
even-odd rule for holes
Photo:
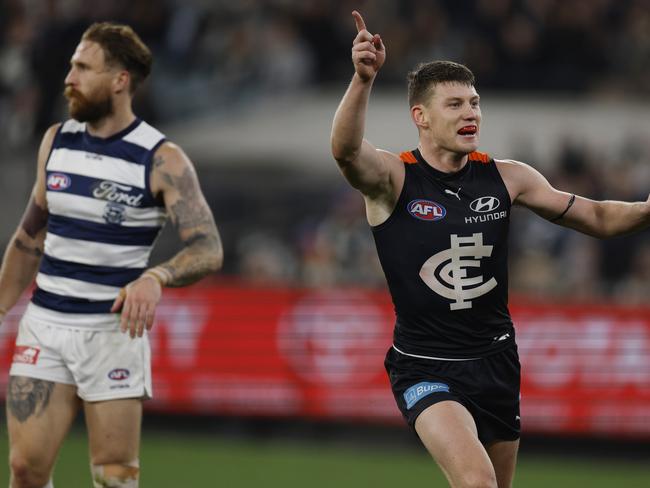
[[[32,415],[41,415],[50,403],[52,390],[54,390],[52,381],[37,380],[25,376],[10,376],[7,412],[21,423]]]

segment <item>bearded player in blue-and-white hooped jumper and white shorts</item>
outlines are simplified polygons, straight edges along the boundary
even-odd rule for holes
[[[12,488],[53,486],[80,408],[93,486],[138,486],[142,400],[152,394],[147,332],[162,287],[221,266],[192,163],[132,111],[151,61],[128,26],[86,30],[65,79],[72,118],[43,137],[31,199],[4,256],[0,322],[36,277],[7,392]],[[148,267],[168,217],[183,248]]]

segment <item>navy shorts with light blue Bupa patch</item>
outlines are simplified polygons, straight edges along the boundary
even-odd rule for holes
[[[443,361],[390,348],[384,362],[397,406],[412,429],[426,408],[456,401],[474,418],[482,444],[519,439],[519,355],[516,344],[480,359]]]

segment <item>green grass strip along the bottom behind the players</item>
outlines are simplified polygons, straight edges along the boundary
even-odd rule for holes
[[[6,428],[0,427],[0,457],[7,458]],[[394,488],[446,487],[424,452],[389,447],[362,449],[304,441],[224,440],[206,435],[146,431],[142,445],[144,488]],[[7,479],[0,465],[0,486]],[[87,445],[81,429],[66,440],[54,476],[57,488],[90,487]],[[521,456],[521,488],[647,488],[650,463],[622,463]]]

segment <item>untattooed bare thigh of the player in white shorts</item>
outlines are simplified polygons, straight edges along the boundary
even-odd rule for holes
[[[127,464],[138,459],[142,400],[84,402],[91,463]]]

